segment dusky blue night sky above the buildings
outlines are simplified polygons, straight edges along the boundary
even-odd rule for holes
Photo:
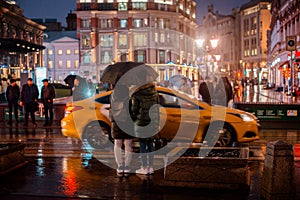
[[[197,22],[202,23],[203,16],[207,14],[207,6],[214,5],[214,10],[220,14],[231,14],[233,8],[239,7],[250,0],[196,0]],[[75,10],[76,0],[16,0],[24,10],[27,18],[57,18],[66,26],[68,13]]]

